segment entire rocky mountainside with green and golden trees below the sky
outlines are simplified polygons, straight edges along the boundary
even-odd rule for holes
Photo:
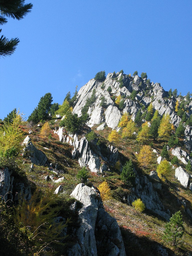
[[[51,102],[1,120],[0,255],[191,255],[191,94],[101,71]]]

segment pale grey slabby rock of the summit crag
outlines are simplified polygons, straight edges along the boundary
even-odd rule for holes
[[[123,78],[122,88],[119,87],[120,82],[118,81],[121,76]],[[134,80],[132,80],[125,74],[116,73],[116,75],[113,76],[112,73],[109,73],[104,81],[103,89],[101,89],[101,84],[101,82],[91,79],[87,84],[81,87],[78,92],[77,103],[73,109],[74,113],[81,116],[81,109],[85,105],[87,98],[91,97],[93,89],[96,90],[95,102],[89,107],[88,111],[90,120],[87,125],[90,127],[94,124],[101,124],[105,122],[109,127],[116,128],[124,112],[129,112],[132,115],[132,120],[134,121],[138,110],[141,109],[140,103],[144,104],[147,108],[151,102],[154,109],[158,110],[160,115],[169,114],[175,126],[178,126],[181,121],[180,117],[177,116],[175,112],[176,99],[174,97],[172,99],[167,99],[166,97],[168,97],[168,92],[166,92],[159,83],[154,84],[152,82],[148,85],[146,79],[142,79],[138,77],[138,75],[134,76]],[[111,86],[112,93],[114,95],[125,96],[123,110],[119,109],[111,99],[110,93],[107,91],[109,86]],[[126,99],[133,90],[136,90],[137,101]],[[146,93],[146,91],[148,93]],[[105,108],[100,106],[102,96],[106,99]],[[153,101],[151,98],[152,96]]]

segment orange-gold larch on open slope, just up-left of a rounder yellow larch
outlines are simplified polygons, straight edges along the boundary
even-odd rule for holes
[[[147,168],[147,166],[152,163],[152,148],[148,145],[144,145],[137,155],[137,161],[141,167]]]

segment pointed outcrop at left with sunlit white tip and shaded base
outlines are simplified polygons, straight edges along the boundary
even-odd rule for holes
[[[23,145],[25,145],[24,151],[29,152],[31,163],[42,166],[48,164],[46,155],[33,145],[29,136],[25,138]]]

